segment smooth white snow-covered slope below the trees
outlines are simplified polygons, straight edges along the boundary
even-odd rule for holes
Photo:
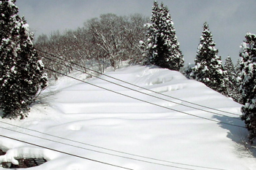
[[[70,76],[132,98],[61,77],[51,82],[52,85],[41,94],[41,97],[44,96],[42,103],[31,107],[26,120],[1,119],[1,135],[127,169],[255,169],[255,158],[249,158],[238,144],[241,137],[246,135],[246,130],[217,123],[221,121],[243,126],[241,120],[232,118],[238,118],[241,114],[240,104],[200,82],[187,80],[181,73],[167,69],[129,66],[106,74],[175,98],[101,76],[158,98],[146,96],[97,78],[86,79],[86,74],[72,72]],[[198,107],[176,98],[238,115]],[[15,163],[14,158],[31,157],[48,160],[42,166],[31,168],[33,170],[122,169],[4,137],[0,138],[0,149],[8,150],[0,161]]]

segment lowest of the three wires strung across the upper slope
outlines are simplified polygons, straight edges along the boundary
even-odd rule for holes
[[[48,68],[45,67],[45,69],[48,69]],[[51,71],[51,72],[56,72],[56,71],[53,70],[53,69],[48,69],[48,70]],[[86,81],[77,79],[77,78],[75,78],[75,77],[71,77],[71,76],[69,76],[69,75],[66,75],[66,74],[63,74],[63,73],[60,73],[60,72],[56,72],[56,73],[61,74],[61,75],[66,76],[66,77],[69,77],[69,78],[72,78],[72,79],[74,79],[74,80],[78,80],[78,81],[80,81],[80,82],[84,82],[84,83],[89,84],[89,85],[93,85],[94,87],[97,87],[97,88],[102,88],[102,87],[99,86],[99,85],[94,85],[94,84],[92,84],[92,83],[90,83],[90,82],[86,82]],[[204,120],[210,120],[210,121],[212,121],[212,122],[221,123],[221,124],[225,124],[225,125],[232,125],[232,126],[236,126],[236,127],[238,127],[238,128],[245,128],[244,126],[241,126],[241,125],[234,125],[234,124],[225,123],[225,122],[218,121],[218,120],[212,120],[212,119],[209,119],[209,118],[206,118],[206,117],[201,117],[201,116],[197,116],[197,115],[192,115],[192,114],[187,113],[187,112],[182,112],[182,111],[179,111],[179,110],[177,110],[177,109],[171,109],[170,107],[164,107],[164,106],[161,106],[161,105],[159,105],[159,104],[154,104],[154,103],[149,102],[149,101],[144,101],[144,100],[142,100],[142,99],[140,99],[140,98],[135,98],[135,97],[132,97],[132,96],[123,94],[123,93],[116,92],[116,91],[114,91],[114,90],[110,90],[110,89],[108,89],[108,88],[102,88],[102,89],[103,89],[103,90],[108,90],[108,91],[113,92],[113,93],[116,93],[116,94],[119,94],[119,95],[121,95],[121,96],[126,96],[126,97],[129,97],[129,98],[133,98],[133,99],[138,100],[138,101],[143,101],[144,103],[151,104],[151,105],[154,105],[154,106],[157,106],[157,107],[162,107],[162,108],[169,109],[169,110],[172,110],[172,111],[175,111],[175,112],[180,112],[180,113],[183,113],[183,114],[185,114],[185,115],[190,115],[190,116],[193,116],[193,117],[198,117],[198,118],[201,118],[201,119],[204,119]]]

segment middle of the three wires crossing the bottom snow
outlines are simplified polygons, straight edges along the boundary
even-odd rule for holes
[[[151,163],[151,164],[154,164],[154,165],[167,166],[167,167],[172,167],[172,168],[176,168],[176,169],[196,170],[196,169],[183,168],[183,167],[179,167],[179,166],[170,166],[170,165],[163,164],[163,163],[155,163],[155,162],[152,162],[152,161],[144,161],[144,160],[140,160],[140,159],[137,159],[137,158],[129,158],[129,157],[125,157],[125,156],[121,156],[121,155],[115,155],[115,154],[112,154],[112,153],[102,152],[102,151],[98,151],[98,150],[91,150],[91,149],[88,149],[88,148],[85,148],[85,147],[78,147],[78,146],[75,146],[75,145],[72,145],[72,144],[67,144],[67,143],[64,143],[64,142],[58,142],[58,141],[55,141],[55,140],[52,140],[52,139],[46,139],[46,138],[43,138],[43,137],[34,136],[34,135],[31,135],[31,134],[26,134],[26,133],[23,133],[23,132],[20,132],[20,131],[15,131],[15,130],[12,130],[12,129],[9,129],[9,128],[4,128],[4,127],[1,127],[1,126],[0,126],[0,128],[3,128],[3,129],[8,130],[8,131],[13,131],[13,132],[16,132],[16,133],[19,133],[19,134],[25,134],[27,136],[32,136],[32,137],[36,137],[36,138],[39,138],[39,139],[44,139],[44,140],[47,140],[47,141],[50,141],[50,142],[56,142],[56,143],[59,143],[59,144],[64,144],[64,145],[67,145],[69,147],[76,147],[76,148],[81,149],[81,150],[89,150],[91,152],[98,152],[98,153],[102,153],[102,154],[105,154],[105,155],[116,156],[118,158],[126,158],[126,159],[133,160],[133,161],[140,161],[140,162],[143,162],[143,163]],[[155,160],[155,161],[158,161],[158,160]],[[182,166],[193,166],[193,165],[189,165],[189,164],[185,164],[185,163],[176,163],[176,164],[179,164],[179,165],[182,165]],[[215,168],[208,168],[208,167],[205,167],[205,166],[193,166],[193,167],[203,168],[203,169],[215,169]],[[215,170],[225,170],[225,169],[215,169]]]

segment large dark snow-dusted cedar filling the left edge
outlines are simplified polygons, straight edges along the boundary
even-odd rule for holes
[[[47,77],[15,0],[1,0],[0,13],[0,108],[2,117],[23,119]]]

